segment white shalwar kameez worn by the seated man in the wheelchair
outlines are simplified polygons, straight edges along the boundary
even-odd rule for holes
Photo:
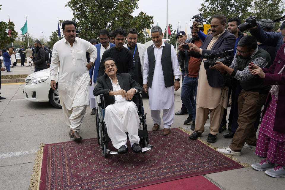
[[[113,91],[121,90],[119,82],[115,84],[110,77],[109,79],[111,80]],[[137,92],[137,89],[135,90]],[[129,134],[131,145],[133,143],[140,143],[138,135],[140,119],[137,114],[137,106],[134,102],[125,100],[121,95],[115,95],[115,103],[105,108],[104,121],[108,136],[115,148],[119,149],[122,145],[126,145],[126,132]]]

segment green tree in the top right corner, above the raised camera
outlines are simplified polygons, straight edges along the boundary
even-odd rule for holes
[[[252,9],[253,15],[256,16],[258,20],[265,18],[275,20],[283,16],[285,12],[283,0],[254,0]],[[281,22],[275,24],[275,31],[278,29],[280,24]]]

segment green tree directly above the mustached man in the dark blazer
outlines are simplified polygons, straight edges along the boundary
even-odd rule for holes
[[[244,20],[251,15],[251,0],[204,0],[198,9],[207,23],[211,23],[213,15],[224,15],[226,18],[240,18]]]

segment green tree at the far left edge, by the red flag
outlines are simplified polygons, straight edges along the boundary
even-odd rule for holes
[[[18,32],[15,31],[14,26],[15,24],[11,21],[8,21],[7,23],[4,21],[0,22],[0,47],[4,47],[9,43],[14,42],[18,37]],[[8,30],[10,30],[11,36],[9,36]]]

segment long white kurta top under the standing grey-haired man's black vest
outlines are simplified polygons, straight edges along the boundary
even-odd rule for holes
[[[155,56],[155,68],[153,73],[153,80],[151,88],[148,88],[149,107],[151,110],[166,110],[170,109],[174,103],[174,88],[173,86],[165,88],[164,77],[161,65],[162,49],[165,47],[164,42],[157,48],[153,44],[154,56]],[[182,73],[179,71],[179,64],[177,56],[174,50],[174,46],[171,45],[171,61],[173,74],[175,79]],[[148,80],[148,52],[145,50],[145,60],[143,65],[143,84],[146,84]]]

